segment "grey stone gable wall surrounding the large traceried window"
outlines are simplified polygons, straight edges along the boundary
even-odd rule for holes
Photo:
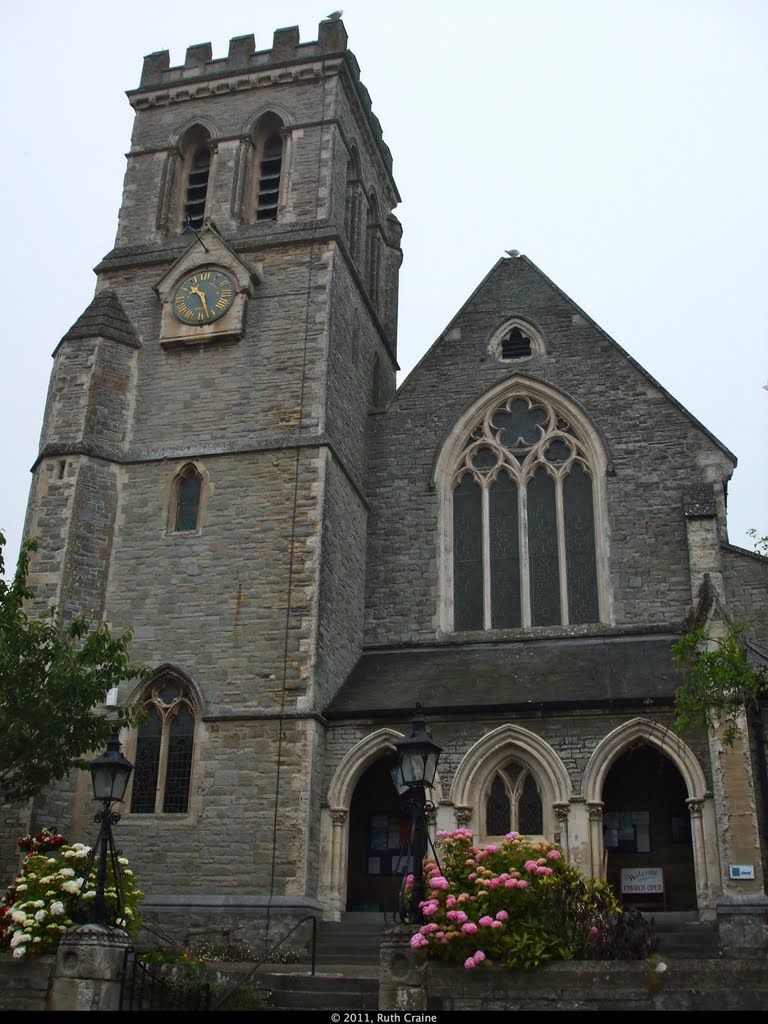
[[[494,331],[513,314],[538,326],[546,354],[516,365],[488,352]],[[722,480],[731,461],[521,257],[500,261],[376,423],[368,644],[434,637],[435,461],[459,417],[490,386],[517,374],[563,391],[603,440],[609,463],[605,541],[612,622],[660,625],[685,617],[690,581],[682,497],[693,485]]]

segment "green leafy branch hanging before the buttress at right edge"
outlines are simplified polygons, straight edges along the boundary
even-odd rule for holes
[[[699,627],[673,644],[672,664],[682,679],[675,691],[677,733],[722,724],[723,741],[733,744],[739,715],[757,705],[766,685],[765,672],[750,665],[744,631],[736,624],[725,637],[713,640]]]

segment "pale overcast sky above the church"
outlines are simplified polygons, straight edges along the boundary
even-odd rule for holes
[[[325,0],[324,0],[325,2]],[[51,352],[113,247],[144,54],[298,25],[306,0],[3,7],[0,528],[15,561]],[[505,249],[738,457],[768,534],[768,0],[350,0],[402,204],[400,380]],[[599,373],[599,366],[595,372]]]

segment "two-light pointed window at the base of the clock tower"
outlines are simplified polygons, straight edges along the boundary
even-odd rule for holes
[[[196,713],[177,676],[157,679],[141,700],[131,786],[132,814],[185,814],[189,809]]]

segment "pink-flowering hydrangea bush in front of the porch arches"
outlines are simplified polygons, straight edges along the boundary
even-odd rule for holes
[[[498,846],[473,845],[468,828],[438,831],[443,868],[425,862],[426,924],[411,939],[428,956],[467,970],[483,962],[536,967],[587,958],[621,912],[605,883],[565,863],[557,846],[510,833]],[[409,886],[413,877],[409,879]]]

